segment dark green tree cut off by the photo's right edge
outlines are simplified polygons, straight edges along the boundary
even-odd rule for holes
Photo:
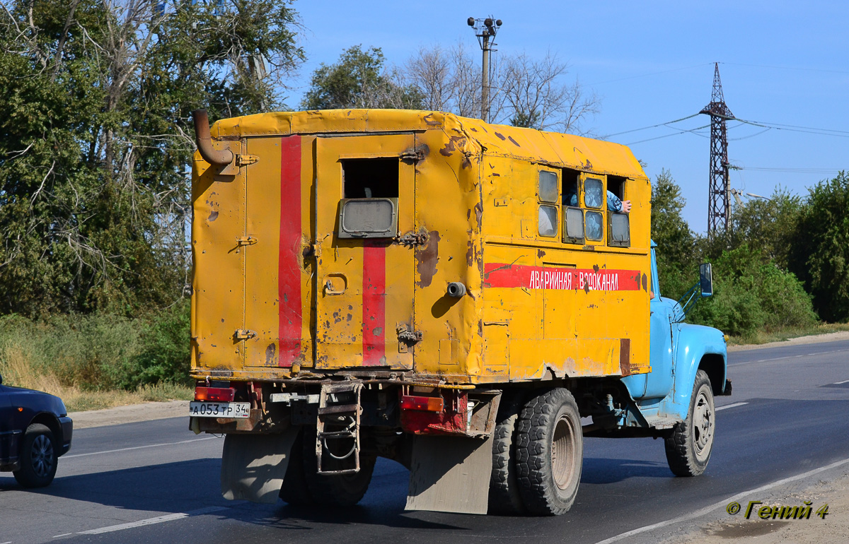
[[[801,210],[790,269],[805,283],[827,321],[849,319],[849,174],[809,190]]]

